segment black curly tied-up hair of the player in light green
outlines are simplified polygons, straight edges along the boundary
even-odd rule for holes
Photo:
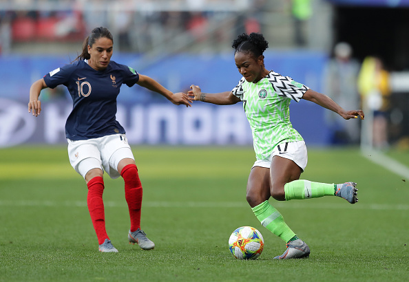
[[[251,53],[256,58],[262,56],[264,51],[269,47],[269,43],[264,39],[263,34],[251,32],[251,34],[240,34],[231,45],[235,49],[235,53],[244,52]]]

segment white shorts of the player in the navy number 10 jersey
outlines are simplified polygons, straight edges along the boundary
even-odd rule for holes
[[[68,141],[68,157],[75,171],[84,178],[91,169],[101,169],[111,178],[118,178],[118,163],[129,158],[135,160],[125,134],[107,135],[88,140]]]

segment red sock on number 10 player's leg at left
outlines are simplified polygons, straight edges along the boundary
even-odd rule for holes
[[[96,232],[96,237],[98,237],[98,244],[101,245],[105,239],[109,239],[107,231],[105,230],[105,213],[104,213],[104,202],[103,202],[103,192],[104,192],[104,180],[103,177],[94,177],[87,184],[88,195],[87,195],[87,205],[90,211],[92,225]]]

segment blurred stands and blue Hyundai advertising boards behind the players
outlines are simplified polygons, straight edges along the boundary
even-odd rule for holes
[[[390,144],[409,135],[408,0],[311,0],[308,19],[295,25],[291,1],[0,1],[0,147],[64,144],[72,102],[64,87],[42,92],[43,113],[27,113],[31,83],[70,63],[96,26],[114,35],[112,60],[134,67],[172,91],[192,83],[204,91],[232,89],[240,80],[231,41],[241,32],[262,32],[269,41],[266,66],[322,91],[324,69],[339,41],[359,61],[376,55],[390,72]],[[308,9],[307,9],[308,10]],[[304,10],[305,11],[305,10]],[[308,12],[308,11],[307,11]],[[297,28],[304,34],[300,43]],[[241,105],[196,102],[175,107],[142,87],[123,87],[117,118],[131,144],[251,144]],[[328,146],[324,109],[291,103],[291,121],[308,145]]]

